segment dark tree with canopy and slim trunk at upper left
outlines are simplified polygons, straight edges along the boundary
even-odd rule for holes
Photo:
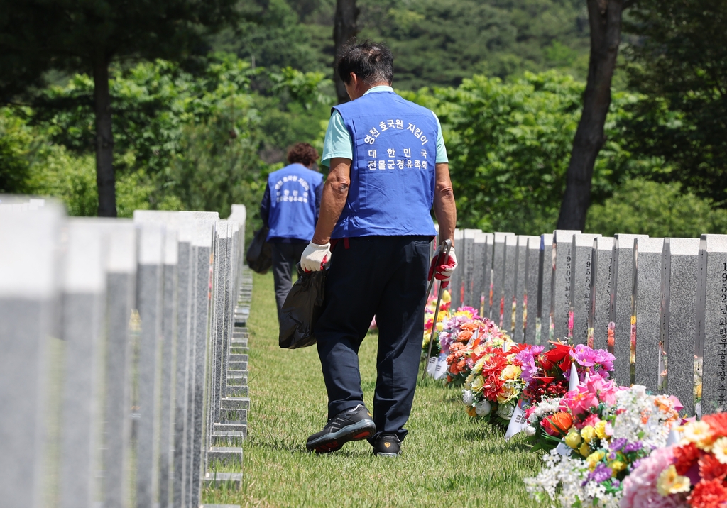
[[[0,101],[42,83],[50,69],[93,76],[98,214],[116,216],[109,67],[114,60],[177,60],[205,31],[236,20],[235,0],[0,0]],[[14,67],[21,63],[20,70]]]

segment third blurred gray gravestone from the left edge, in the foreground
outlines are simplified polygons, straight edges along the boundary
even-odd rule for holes
[[[136,307],[137,229],[126,219],[99,220],[108,231],[105,323],[105,440],[103,443],[104,507],[129,506],[131,452],[131,363],[129,318]]]

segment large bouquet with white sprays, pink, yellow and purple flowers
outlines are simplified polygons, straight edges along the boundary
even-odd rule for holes
[[[559,445],[545,455],[537,477],[525,480],[527,490],[563,507],[619,507],[625,479],[666,445],[672,427],[682,422],[681,408],[674,397],[649,395],[640,385],[619,387],[601,374],[563,398],[542,400],[527,412],[536,426],[529,433],[537,435],[539,428],[540,445]]]

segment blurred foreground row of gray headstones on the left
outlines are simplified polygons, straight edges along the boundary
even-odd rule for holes
[[[2,506],[198,507],[240,484],[245,219],[0,195]]]

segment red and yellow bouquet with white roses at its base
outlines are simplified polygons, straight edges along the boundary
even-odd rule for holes
[[[465,379],[462,401],[467,414],[491,424],[507,427],[525,387],[518,353],[528,344],[489,342],[477,353],[477,360]]]

